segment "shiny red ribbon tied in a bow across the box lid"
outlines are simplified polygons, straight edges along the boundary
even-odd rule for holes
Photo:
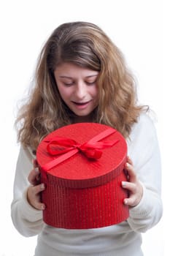
[[[101,149],[112,147],[119,140],[112,140],[112,141],[98,141],[98,140],[106,138],[107,136],[115,132],[116,132],[115,129],[112,129],[112,128],[106,129],[104,132],[99,133],[98,135],[93,137],[91,140],[89,140],[86,143],[83,143],[82,145],[77,143],[75,140],[72,140],[69,138],[62,138],[59,136],[55,136],[50,140],[45,140],[45,143],[48,143],[47,152],[52,156],[57,156],[57,155],[60,155],[60,156],[48,162],[47,164],[43,165],[42,170],[45,170],[47,172],[48,170],[60,164],[64,160],[69,159],[69,157],[72,157],[74,154],[77,154],[77,152],[79,151],[85,154],[85,156],[90,159],[100,158],[102,154]],[[54,148],[52,146],[56,146],[56,147]]]

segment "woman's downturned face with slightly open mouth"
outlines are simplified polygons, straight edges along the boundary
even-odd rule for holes
[[[98,105],[98,74],[98,71],[72,63],[63,63],[55,69],[61,98],[78,120],[90,121],[90,113]]]

